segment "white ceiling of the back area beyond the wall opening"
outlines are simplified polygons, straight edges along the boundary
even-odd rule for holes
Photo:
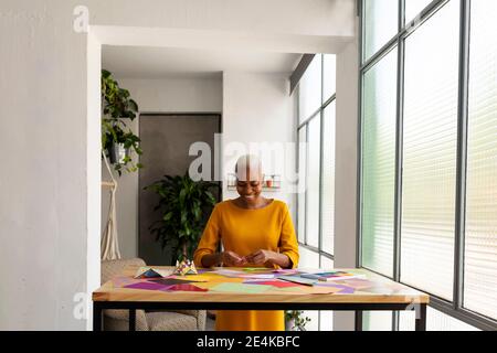
[[[121,78],[219,77],[223,71],[289,76],[300,58],[240,50],[102,46],[102,67]]]

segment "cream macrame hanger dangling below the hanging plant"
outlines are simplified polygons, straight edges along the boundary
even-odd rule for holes
[[[107,161],[105,152],[102,151],[104,157],[105,165],[107,167],[108,173],[110,175],[112,182],[102,182],[103,186],[110,188],[110,202],[108,206],[108,218],[105,225],[104,232],[102,233],[101,239],[101,258],[102,260],[115,260],[120,259],[119,242],[117,239],[117,217],[116,217],[116,191],[117,182],[113,175],[113,171]]]

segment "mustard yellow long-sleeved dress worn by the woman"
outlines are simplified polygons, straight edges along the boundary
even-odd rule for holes
[[[193,255],[195,266],[202,267],[204,255],[214,254],[219,242],[225,252],[241,256],[265,249],[288,256],[292,267],[298,265],[298,243],[287,205],[273,200],[267,206],[246,210],[231,201],[215,205]],[[253,267],[247,265],[247,267]],[[277,266],[275,266],[277,267]],[[285,319],[281,310],[219,310],[218,331],[284,331]]]

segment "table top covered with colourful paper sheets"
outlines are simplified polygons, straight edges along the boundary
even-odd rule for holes
[[[168,266],[148,266],[172,269]],[[392,281],[367,269],[332,269],[359,278],[305,286],[278,279],[225,277],[222,269],[199,269],[199,275],[136,279],[139,267],[128,266],[93,292],[94,301],[131,302],[288,302],[288,303],[429,303],[426,293]],[[321,269],[320,271],[327,271]],[[247,271],[251,274],[252,271]],[[252,274],[271,274],[272,269]]]

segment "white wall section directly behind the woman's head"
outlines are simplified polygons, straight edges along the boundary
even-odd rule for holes
[[[285,143],[295,141],[294,99],[289,96],[288,76],[225,72],[223,74],[223,176],[234,171],[237,157],[230,147],[250,152],[251,143]],[[261,146],[261,145],[260,145]],[[243,151],[243,150],[242,150]],[[257,152],[257,151],[255,151]],[[284,164],[262,154],[264,172],[292,176],[295,171],[295,146],[289,145]],[[282,160],[279,160],[282,161]],[[295,194],[290,185],[283,183],[281,192],[267,192],[266,197],[285,201],[295,220]],[[229,191],[224,183],[223,197],[235,199],[236,191]]]

